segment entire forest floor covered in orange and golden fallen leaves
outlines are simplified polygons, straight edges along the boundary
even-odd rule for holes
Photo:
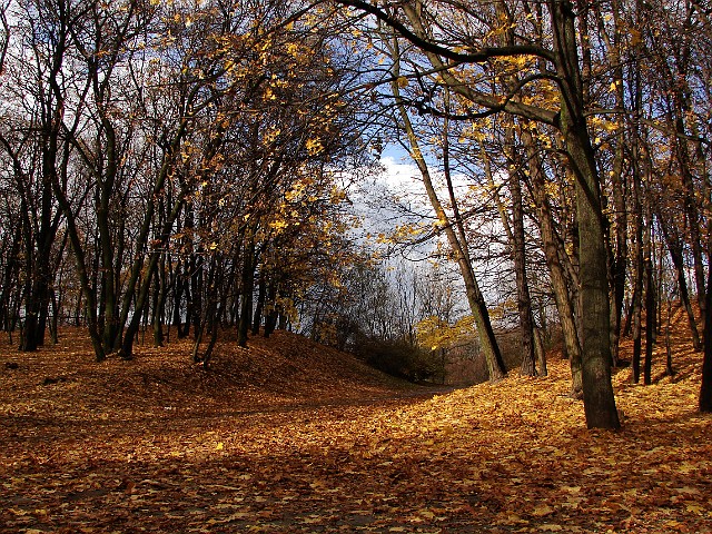
[[[82,333],[0,338],[0,532],[712,532],[702,356],[673,333],[651,386],[614,376],[587,431],[567,363],[457,390],[405,385],[277,333],[92,362]],[[630,343],[624,350],[630,349]],[[17,368],[16,368],[17,364]]]

